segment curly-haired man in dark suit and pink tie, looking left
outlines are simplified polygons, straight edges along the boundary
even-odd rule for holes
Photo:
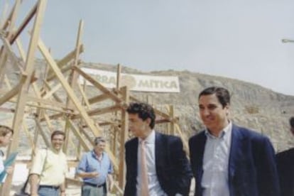
[[[180,138],[154,131],[156,115],[148,104],[131,103],[127,112],[136,137],[125,144],[124,195],[188,195],[192,171]]]

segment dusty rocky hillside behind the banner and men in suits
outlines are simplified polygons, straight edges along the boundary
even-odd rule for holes
[[[114,65],[83,63],[85,67],[116,71]],[[250,127],[271,138],[277,151],[294,146],[290,135],[288,119],[294,115],[294,97],[273,92],[259,85],[226,77],[203,75],[189,71],[141,72],[123,67],[122,72],[144,75],[178,76],[180,93],[132,92],[136,97],[146,100],[147,96],[156,105],[173,104],[180,126],[187,136],[202,129],[197,108],[197,96],[202,89],[212,85],[222,86],[232,93],[232,119],[236,124]],[[149,99],[150,100],[150,99]]]

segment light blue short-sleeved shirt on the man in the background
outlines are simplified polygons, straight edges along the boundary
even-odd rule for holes
[[[89,151],[82,156],[79,165],[77,165],[77,173],[93,172],[99,173],[97,178],[83,178],[85,183],[94,185],[102,185],[106,182],[107,175],[113,173],[114,169],[107,153],[102,153],[102,159],[98,160],[94,151]]]

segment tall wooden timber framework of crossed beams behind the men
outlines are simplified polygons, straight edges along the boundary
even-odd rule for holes
[[[42,138],[45,146],[49,147],[50,132],[61,127],[67,136],[63,151],[73,152],[75,160],[78,161],[82,152],[93,148],[94,137],[105,136],[109,143],[106,151],[114,165],[115,191],[122,195],[126,173],[124,143],[130,137],[126,107],[129,102],[139,100],[131,96],[128,87],[120,87],[120,65],[117,66],[114,89],[107,89],[82,70],[82,21],[77,31],[75,48],[56,61],[40,38],[46,0],[36,0],[35,6],[16,27],[21,2],[16,0],[9,15],[5,18],[4,14],[4,18],[0,18],[0,112],[13,115],[9,126],[15,131],[7,154],[19,151],[20,136],[24,133],[28,137],[33,155],[38,147],[38,138]],[[25,34],[23,31],[29,24],[30,33],[26,33],[29,43],[28,49],[25,50],[20,35]],[[36,63],[37,51],[45,63]],[[38,74],[37,70],[43,72],[39,71]],[[16,79],[11,78],[13,74]],[[86,82],[81,85],[79,78],[90,83],[92,87],[87,87]],[[89,97],[89,88],[91,94],[95,92],[96,95]],[[187,139],[180,131],[173,107],[169,106],[166,110],[168,112],[155,109],[156,124],[168,123],[166,132],[180,136],[187,150]],[[28,116],[33,116],[33,128],[28,127]],[[79,182],[67,178],[67,183]],[[11,183],[12,175],[8,175],[0,195],[9,195]]]

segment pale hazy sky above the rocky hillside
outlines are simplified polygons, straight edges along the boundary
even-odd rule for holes
[[[14,1],[0,2],[3,12]],[[20,18],[35,3],[23,0]],[[281,42],[294,40],[293,10],[293,0],[48,0],[41,36],[62,58],[82,19],[85,62],[189,70],[294,95],[294,43]]]

